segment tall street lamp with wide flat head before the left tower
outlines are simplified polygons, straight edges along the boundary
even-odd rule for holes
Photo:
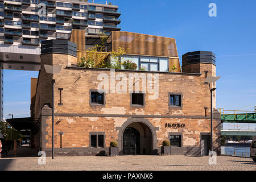
[[[59,73],[62,65],[47,65],[44,64],[44,69],[46,73],[51,73],[52,76],[55,73]],[[52,159],[54,159],[54,83],[55,80],[52,79]]]

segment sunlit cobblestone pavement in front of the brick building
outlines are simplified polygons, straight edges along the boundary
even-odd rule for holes
[[[56,156],[46,158],[46,165],[38,164],[39,157],[0,159],[0,170],[252,170],[256,163],[250,158],[217,156],[217,165],[209,165],[209,156]]]

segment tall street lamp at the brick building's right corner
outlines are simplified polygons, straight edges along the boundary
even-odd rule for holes
[[[207,78],[205,78],[205,84],[209,84],[209,88],[210,88],[210,84],[216,82],[218,79],[220,79],[220,76],[208,76]],[[212,92],[216,90],[216,88],[210,88],[210,144],[211,144],[211,151],[213,151],[213,136],[212,136]],[[212,152],[210,152],[211,156],[213,155]]]

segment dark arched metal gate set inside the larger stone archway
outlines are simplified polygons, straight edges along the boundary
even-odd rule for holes
[[[140,134],[133,127],[126,127],[123,132],[123,155],[140,154]]]

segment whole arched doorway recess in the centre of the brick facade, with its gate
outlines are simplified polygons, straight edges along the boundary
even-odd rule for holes
[[[123,131],[123,155],[152,154],[152,131],[142,122],[133,122]]]

